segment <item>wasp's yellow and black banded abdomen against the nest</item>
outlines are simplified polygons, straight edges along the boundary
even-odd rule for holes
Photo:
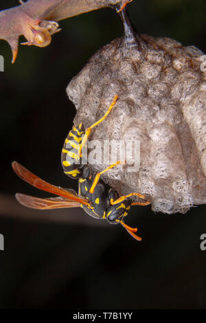
[[[69,131],[65,144],[62,148],[62,167],[66,175],[71,178],[78,179],[81,176],[82,168],[81,158],[79,155],[80,144],[82,143],[82,135],[84,131],[81,131],[82,124],[78,127],[73,126]]]

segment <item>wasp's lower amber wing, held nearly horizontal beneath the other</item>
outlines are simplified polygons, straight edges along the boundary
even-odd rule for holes
[[[51,197],[50,199],[40,199],[38,197],[31,197],[30,195],[19,194],[15,195],[17,201],[27,208],[39,210],[52,210],[58,208],[79,208],[80,203],[76,201],[69,201],[65,197]]]

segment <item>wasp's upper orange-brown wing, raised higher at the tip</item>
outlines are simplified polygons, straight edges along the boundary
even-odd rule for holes
[[[30,170],[27,170],[27,168],[23,167],[16,161],[12,162],[12,168],[14,172],[16,172],[16,175],[18,175],[27,183],[30,183],[35,188],[39,188],[40,190],[45,190],[46,192],[59,195],[60,197],[65,197],[65,199],[68,199],[70,201],[76,201],[84,205],[89,205],[89,203],[86,200],[80,199],[78,195],[73,194],[73,190],[71,190],[72,192],[69,192],[69,190],[66,190],[65,188],[61,188],[60,186],[54,186],[52,184],[47,183],[46,181],[43,181],[43,179],[37,177],[32,172],[30,172]]]

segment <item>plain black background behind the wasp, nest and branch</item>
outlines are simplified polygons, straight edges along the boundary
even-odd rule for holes
[[[0,10],[17,4],[1,0]],[[128,9],[139,32],[206,52],[205,1],[135,0]],[[60,21],[60,27],[48,47],[20,45],[14,65],[10,47],[0,42],[0,308],[205,309],[204,205],[172,215],[135,208],[127,223],[138,226],[138,243],[122,227],[82,210],[41,212],[15,201],[15,192],[48,194],[16,177],[13,160],[49,182],[77,189],[60,164],[76,112],[65,88],[102,45],[122,34],[109,8]]]

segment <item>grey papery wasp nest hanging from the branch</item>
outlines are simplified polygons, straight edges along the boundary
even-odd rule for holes
[[[130,50],[124,38],[104,46],[71,80],[67,94],[77,109],[74,124],[87,127],[100,119],[117,93],[111,115],[90,139],[140,140],[141,164],[138,172],[119,165],[104,181],[119,194],[145,193],[153,211],[185,213],[206,203],[203,52],[169,38],[139,39],[142,47]]]

